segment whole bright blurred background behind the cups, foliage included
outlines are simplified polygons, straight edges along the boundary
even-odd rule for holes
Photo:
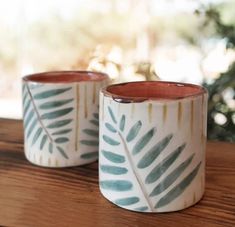
[[[235,1],[0,1],[0,117],[21,118],[21,78],[106,72],[209,91],[208,138],[235,142]]]

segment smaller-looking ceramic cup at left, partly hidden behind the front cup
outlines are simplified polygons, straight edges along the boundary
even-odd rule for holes
[[[26,158],[45,167],[77,166],[97,160],[99,90],[108,76],[57,71],[23,78]]]

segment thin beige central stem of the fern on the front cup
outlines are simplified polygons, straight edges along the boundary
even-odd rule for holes
[[[148,194],[147,194],[147,192],[146,192],[146,190],[145,190],[145,186],[144,186],[142,180],[140,179],[140,176],[139,176],[138,173],[137,173],[136,167],[135,167],[135,165],[134,165],[134,163],[133,163],[133,160],[132,160],[132,158],[131,158],[130,151],[129,151],[128,147],[127,147],[127,144],[126,144],[126,142],[125,142],[125,140],[124,140],[124,138],[123,138],[123,136],[122,136],[122,134],[121,134],[120,132],[118,132],[118,135],[120,136],[121,141],[122,141],[122,143],[123,143],[123,145],[124,145],[124,150],[125,150],[125,152],[126,152],[127,159],[128,159],[128,161],[129,161],[129,163],[130,163],[130,165],[131,165],[131,168],[132,168],[133,173],[134,173],[134,175],[135,175],[135,178],[136,178],[136,180],[137,180],[137,182],[138,182],[138,184],[139,184],[139,187],[140,187],[140,189],[141,189],[141,191],[142,191],[142,193],[143,193],[143,195],[144,195],[144,198],[145,198],[145,200],[146,200],[146,203],[148,204],[150,210],[153,212],[153,211],[154,211],[154,207],[153,207],[151,201],[149,200]]]

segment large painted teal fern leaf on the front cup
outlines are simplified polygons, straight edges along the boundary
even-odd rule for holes
[[[101,188],[104,190],[118,191],[123,194],[122,197],[113,202],[126,208],[131,206],[131,209],[135,211],[154,211],[170,204],[186,190],[197,176],[200,163],[184,179],[181,177],[185,171],[190,171],[190,164],[194,154],[178,164],[169,173],[170,167],[175,165],[176,162],[179,162],[179,157],[186,147],[185,143],[172,152],[167,152],[166,155],[164,151],[174,138],[173,134],[169,134],[164,138],[160,138],[154,146],[148,148],[146,151],[146,147],[150,141],[153,138],[156,140],[157,129],[154,127],[144,132],[142,130],[141,120],[138,120],[129,128],[126,125],[127,116],[123,114],[118,119],[110,106],[108,106],[107,112],[109,113],[110,121],[105,122],[104,127],[107,129],[108,134],[103,134],[101,137],[109,149],[101,150],[100,155],[109,164],[100,164],[99,169],[103,174],[115,175],[116,177],[114,179],[116,180],[101,181]],[[134,145],[130,146],[129,143],[133,143]],[[116,147],[123,152],[117,153]],[[135,155],[140,155],[138,163],[133,161]],[[154,163],[157,163],[157,165],[154,166]],[[145,168],[149,168],[149,170],[146,177],[142,179],[142,174],[140,173]],[[132,172],[136,179],[132,180],[125,177],[128,172]],[[160,182],[159,179],[161,179]],[[175,185],[176,180],[179,180],[180,183]],[[147,185],[154,185],[152,191],[148,191]],[[139,187],[142,195],[133,194],[132,196],[126,196],[126,192],[130,195],[129,191],[134,187]],[[153,204],[152,199],[157,195],[161,195],[168,188],[171,188],[170,191],[166,195],[160,196],[157,203]]]

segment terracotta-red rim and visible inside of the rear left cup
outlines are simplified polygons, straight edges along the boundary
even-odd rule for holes
[[[108,79],[108,75],[92,71],[51,71],[30,74],[23,77],[25,82],[34,83],[77,83],[85,81],[102,81]]]

